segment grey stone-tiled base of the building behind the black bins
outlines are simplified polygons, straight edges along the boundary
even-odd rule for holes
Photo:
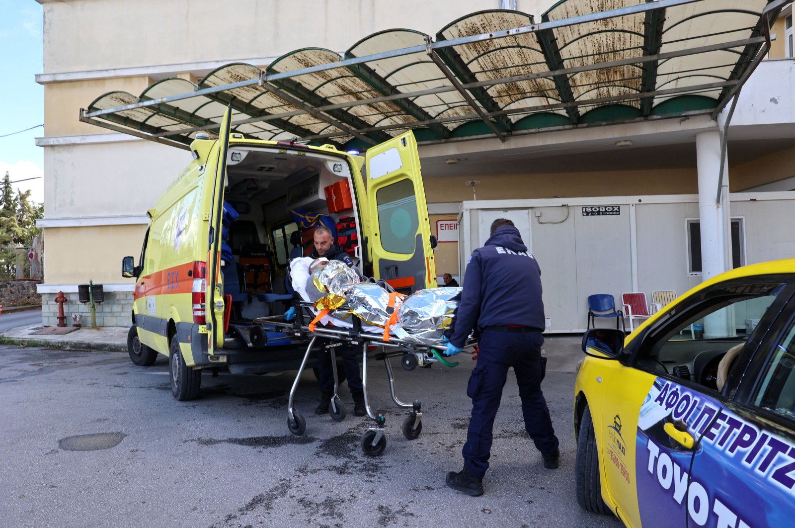
[[[58,303],[55,298],[57,293],[41,294],[41,324],[45,326],[58,325]],[[88,305],[78,301],[77,292],[64,293],[68,299],[64,303],[64,316],[66,324],[72,326],[72,314],[80,313],[83,316],[80,324],[91,326],[91,312]],[[105,292],[105,301],[97,305],[97,326],[130,326],[132,324],[133,295],[130,292]]]

